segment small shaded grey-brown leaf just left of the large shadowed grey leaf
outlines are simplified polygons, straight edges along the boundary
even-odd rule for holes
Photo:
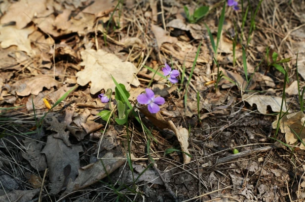
[[[37,143],[35,140],[25,139],[22,141],[27,148],[26,153],[21,153],[22,157],[27,159],[31,166],[37,171],[44,171],[46,169],[46,159],[40,153],[42,143]]]

